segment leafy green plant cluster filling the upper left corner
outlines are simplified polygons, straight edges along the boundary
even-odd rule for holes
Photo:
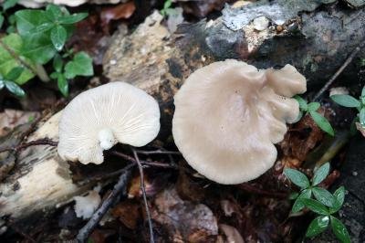
[[[16,1],[11,2],[16,3]],[[68,79],[93,75],[92,59],[87,53],[73,53],[65,48],[74,25],[87,16],[86,13],[70,14],[65,7],[58,5],[47,5],[45,10],[16,11],[11,20],[15,21],[16,33],[0,39],[2,77],[8,77],[7,73],[10,70],[20,67],[23,72],[16,79],[6,79],[6,81],[13,82],[17,86],[35,76],[48,81],[49,77],[43,65],[53,59],[54,71],[50,78],[57,80],[58,89],[67,96]],[[8,20],[9,23],[11,21]]]

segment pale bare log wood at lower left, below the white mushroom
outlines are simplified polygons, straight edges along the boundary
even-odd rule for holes
[[[48,138],[58,140],[60,112],[52,116],[27,141]],[[67,202],[73,195],[85,192],[91,185],[75,185],[68,163],[57,156],[57,147],[28,147],[18,154],[16,166],[0,184],[0,216],[14,219]]]

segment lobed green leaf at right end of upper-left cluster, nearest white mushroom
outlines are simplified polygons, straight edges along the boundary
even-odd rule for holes
[[[93,74],[92,59],[86,52],[78,52],[72,61],[69,61],[65,66],[67,79],[73,79],[76,76],[92,76]]]

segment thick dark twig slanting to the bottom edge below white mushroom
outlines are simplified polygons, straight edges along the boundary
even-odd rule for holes
[[[102,205],[99,206],[98,210],[89,219],[89,222],[78,231],[78,236],[76,238],[78,242],[84,243],[88,240],[89,235],[93,229],[97,227],[99,221],[107,213],[110,206],[112,206],[118,199],[120,193],[126,190],[127,183],[130,178],[130,169],[134,166],[135,164],[128,164],[126,167],[124,167],[123,173],[120,174],[120,179],[118,180],[118,183],[114,185],[110,195],[108,195],[107,199],[105,199]]]

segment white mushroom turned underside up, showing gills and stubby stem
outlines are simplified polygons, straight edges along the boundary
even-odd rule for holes
[[[59,122],[58,153],[64,160],[101,164],[103,150],[116,143],[141,147],[160,131],[156,100],[125,82],[80,93]]]

